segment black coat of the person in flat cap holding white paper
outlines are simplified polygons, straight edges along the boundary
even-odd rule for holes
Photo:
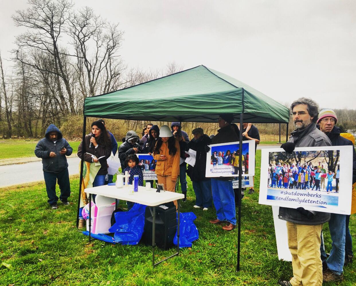
[[[204,146],[210,145],[211,139],[208,135],[204,134],[202,137],[196,141],[193,139],[188,143],[187,149],[192,149],[197,151],[197,157],[194,167],[188,165],[187,174],[192,181],[204,181],[210,180],[210,178],[205,177],[205,166],[206,166],[206,152]]]

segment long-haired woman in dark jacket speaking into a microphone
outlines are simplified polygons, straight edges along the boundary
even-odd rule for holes
[[[82,152],[83,141],[79,144],[77,154],[80,159],[83,159],[84,157],[84,160],[87,162],[100,163],[101,167],[95,176],[93,187],[103,186],[105,184],[105,176],[108,174],[108,164],[106,159],[108,159],[111,154],[111,140],[104,124],[100,121],[91,123],[91,134],[92,135],[85,136],[85,154]],[[93,137],[93,135],[95,137]],[[91,148],[89,147],[90,143],[92,143],[93,146]],[[93,158],[91,154],[94,155],[95,158]],[[100,157],[103,158],[97,159]]]

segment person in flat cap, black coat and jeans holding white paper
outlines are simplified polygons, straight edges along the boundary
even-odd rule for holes
[[[196,128],[192,131],[194,140],[188,143],[187,149],[197,152],[194,167],[188,165],[187,174],[192,180],[195,193],[195,208],[207,211],[211,207],[211,179],[205,177],[206,151],[204,146],[211,144],[211,139],[204,134],[203,129]]]

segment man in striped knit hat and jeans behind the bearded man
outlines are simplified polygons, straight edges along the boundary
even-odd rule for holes
[[[354,144],[342,136],[340,136],[340,128],[335,126],[337,122],[336,114],[330,108],[324,108],[319,113],[318,124],[320,131],[324,132],[326,136],[329,137],[331,144],[333,146],[344,146],[352,145],[353,152],[353,164],[352,164],[352,184],[356,182],[356,152]],[[334,171],[336,173],[336,166],[334,166]],[[330,170],[330,169],[329,169]],[[342,168],[341,168],[342,171]],[[331,190],[332,191],[332,190]],[[341,190],[342,191],[342,190]],[[352,253],[352,239],[349,230],[349,215],[340,215],[338,213],[331,213],[329,221],[329,229],[331,240],[333,244],[330,251],[330,256],[326,259],[326,253],[324,248],[324,242],[321,240],[321,260],[323,261],[323,266],[326,271],[323,273],[323,282],[330,281],[341,281],[344,279],[344,262],[346,263],[352,261],[354,256]],[[345,257],[345,241],[351,242],[351,254],[347,254]]]

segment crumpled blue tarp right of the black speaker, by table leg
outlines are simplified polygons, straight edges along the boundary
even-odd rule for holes
[[[177,214],[178,217],[178,214]],[[199,239],[198,228],[194,224],[197,218],[193,212],[181,212],[179,223],[179,248],[192,247],[192,242]],[[173,243],[177,245],[177,233],[174,236]]]

